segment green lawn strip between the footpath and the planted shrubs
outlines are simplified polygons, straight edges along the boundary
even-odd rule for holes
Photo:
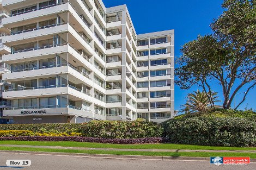
[[[197,146],[197,145],[190,145],[190,144],[172,144],[172,143],[110,144],[110,143],[89,143],[89,142],[68,142],[68,141],[64,141],[64,142],[0,141],[0,144],[87,147],[87,148],[122,148],[122,149],[256,150],[256,147],[215,147],[215,146]]]

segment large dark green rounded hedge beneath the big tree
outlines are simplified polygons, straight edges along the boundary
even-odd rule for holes
[[[162,123],[172,143],[207,146],[256,146],[256,123],[238,117],[183,117]]]

